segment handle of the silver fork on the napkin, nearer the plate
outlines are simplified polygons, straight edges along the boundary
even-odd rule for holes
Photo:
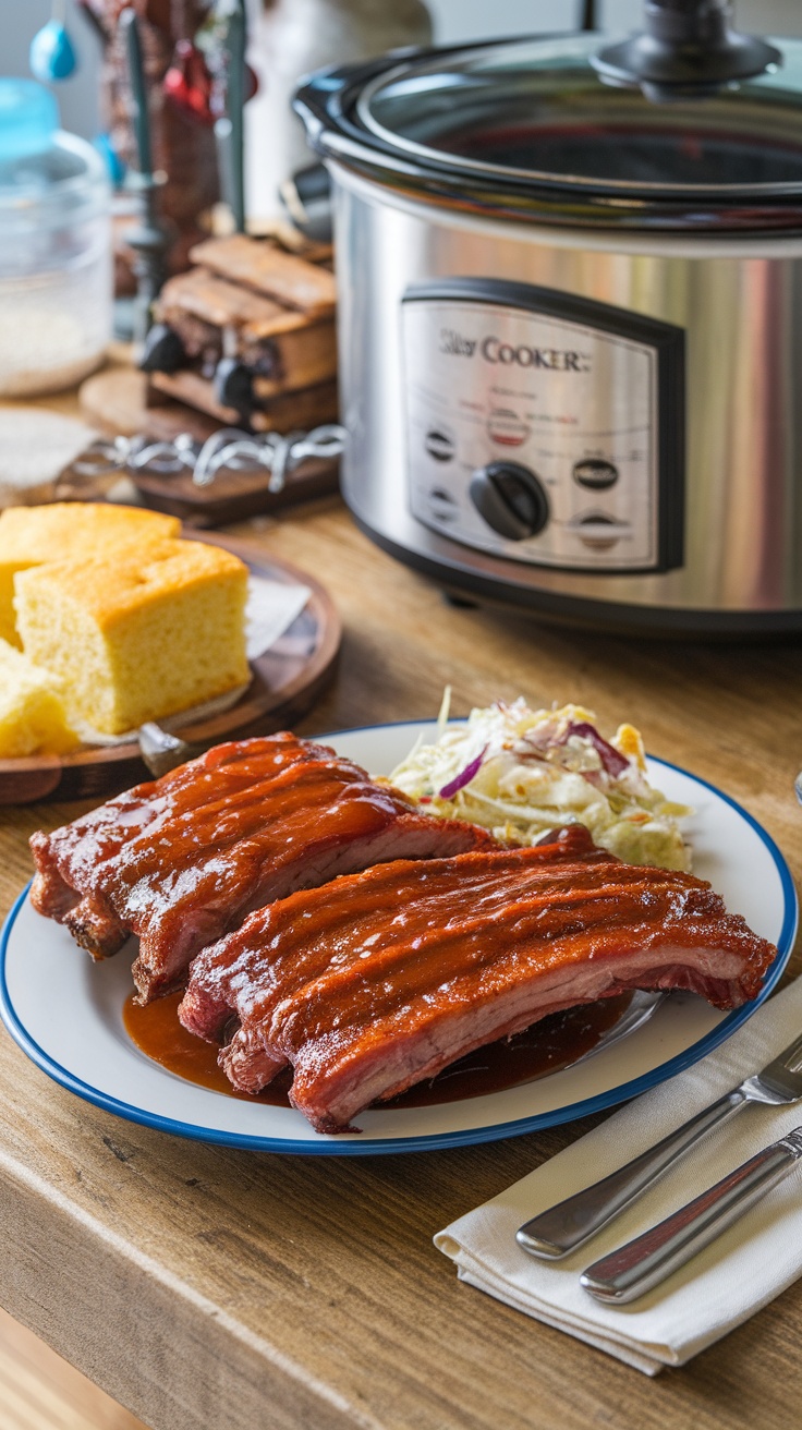
[[[588,1241],[608,1221],[623,1211],[636,1197],[662,1177],[669,1167],[700,1137],[736,1113],[746,1101],[741,1088],[732,1088],[711,1107],[702,1108],[675,1133],[633,1157],[600,1181],[595,1181],[556,1207],[549,1207],[519,1227],[516,1240],[532,1256],[555,1261]]]

